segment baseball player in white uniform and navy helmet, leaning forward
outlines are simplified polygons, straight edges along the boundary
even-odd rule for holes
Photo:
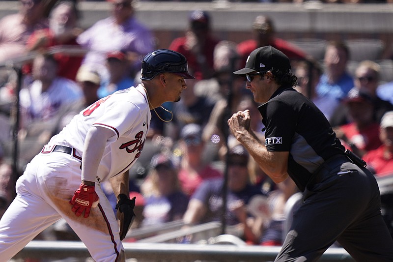
[[[64,218],[94,261],[125,261],[121,240],[131,226],[135,199],[128,169],[140,156],[150,110],[177,102],[187,88],[187,60],[160,49],[142,61],[141,84],[84,109],[32,159],[16,184],[17,196],[0,220],[0,258],[11,259],[38,233]],[[155,110],[154,110],[155,111]],[[110,179],[117,217],[100,188]]]

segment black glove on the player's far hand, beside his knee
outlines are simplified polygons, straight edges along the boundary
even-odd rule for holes
[[[123,240],[126,237],[127,232],[130,230],[131,225],[134,222],[135,199],[136,197],[128,199],[128,197],[124,194],[117,196],[116,216],[120,221],[120,240]]]

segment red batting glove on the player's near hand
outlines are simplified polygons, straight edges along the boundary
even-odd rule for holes
[[[71,210],[75,212],[76,216],[80,216],[84,211],[84,218],[86,218],[90,214],[90,208],[96,207],[98,202],[98,195],[94,186],[81,184],[70,201],[70,204],[73,205]]]

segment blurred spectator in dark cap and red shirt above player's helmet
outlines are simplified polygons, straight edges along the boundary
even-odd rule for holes
[[[189,69],[198,80],[209,79],[214,74],[213,52],[218,42],[211,32],[210,15],[195,10],[190,14],[185,36],[174,39],[169,49],[187,58]]]

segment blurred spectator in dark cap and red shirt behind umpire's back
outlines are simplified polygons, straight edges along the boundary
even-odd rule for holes
[[[352,88],[344,100],[351,122],[334,129],[347,149],[362,157],[367,151],[381,146],[379,122],[374,117],[372,98],[364,89]]]

